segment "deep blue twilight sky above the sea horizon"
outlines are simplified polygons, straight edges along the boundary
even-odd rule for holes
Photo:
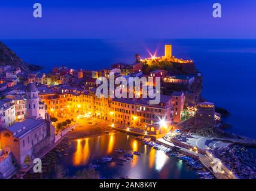
[[[42,18],[32,16],[42,4]],[[222,18],[212,17],[220,2]],[[255,0],[0,1],[0,39],[256,38]]]

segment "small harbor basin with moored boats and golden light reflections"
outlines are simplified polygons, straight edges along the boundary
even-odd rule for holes
[[[92,152],[95,149],[97,152]],[[169,155],[168,150],[154,149],[134,135],[120,132],[65,138],[42,159],[42,174],[29,171],[23,178],[75,178],[90,167],[99,173],[97,178],[199,178],[196,170]]]

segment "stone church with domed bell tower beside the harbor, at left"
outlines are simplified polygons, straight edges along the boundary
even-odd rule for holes
[[[39,112],[38,90],[33,83],[26,86],[26,117],[0,131],[0,145],[5,153],[11,152],[18,165],[26,167],[54,144],[55,128],[50,116]]]

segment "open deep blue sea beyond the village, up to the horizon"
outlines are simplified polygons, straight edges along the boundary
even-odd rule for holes
[[[173,55],[193,59],[203,73],[202,95],[231,115],[224,121],[228,131],[256,138],[256,40],[175,39],[108,40],[47,39],[3,40],[23,60],[45,67],[101,69],[112,63],[132,63],[135,53],[164,54],[164,44],[173,45]]]

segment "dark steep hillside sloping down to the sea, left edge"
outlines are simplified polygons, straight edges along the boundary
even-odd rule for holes
[[[4,43],[0,41],[0,65],[11,65],[14,67],[20,67],[25,71],[35,71],[40,70],[43,67],[37,66],[35,64],[25,63],[17,54],[14,53],[10,48],[8,48]]]

